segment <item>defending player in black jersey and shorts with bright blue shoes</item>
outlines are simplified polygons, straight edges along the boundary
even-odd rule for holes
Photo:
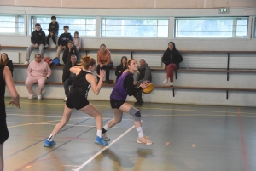
[[[44,140],[44,146],[49,147],[55,145],[54,137],[61,131],[61,128],[67,124],[73,108],[83,111],[96,119],[97,136],[95,143],[108,146],[108,143],[102,139],[102,115],[100,111],[96,110],[96,108],[87,100],[90,87],[92,88],[94,94],[97,95],[100,93],[105,71],[100,71],[100,75],[98,75],[98,77],[100,77],[100,81],[98,84],[96,84],[96,77],[94,77],[91,73],[96,69],[96,60],[89,56],[83,56],[81,61],[82,66],[73,66],[70,68],[70,71],[76,74],[76,77],[73,78],[72,87],[67,95],[63,117],[61,122],[55,126],[55,129],[49,135],[49,138]]]

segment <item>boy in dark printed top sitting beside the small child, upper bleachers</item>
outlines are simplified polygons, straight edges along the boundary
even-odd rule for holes
[[[64,26],[63,27],[64,29],[64,33],[61,34],[61,36],[59,37],[59,40],[58,40],[58,49],[57,49],[57,54],[56,54],[56,57],[60,58],[60,54],[61,54],[61,51],[64,50],[65,48],[67,48],[67,42],[69,40],[73,40],[71,34],[68,31],[69,27],[68,26]]]

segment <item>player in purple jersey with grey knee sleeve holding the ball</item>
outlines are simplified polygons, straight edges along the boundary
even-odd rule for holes
[[[141,123],[141,112],[134,108],[132,105],[125,102],[127,94],[129,96],[137,94],[137,92],[147,88],[147,83],[141,83],[139,87],[133,84],[133,73],[137,71],[137,60],[128,60],[128,69],[124,71],[118,82],[115,84],[113,91],[110,95],[110,104],[114,111],[114,118],[109,121],[104,128],[102,128],[102,139],[109,141],[106,132],[109,128],[112,128],[117,123],[122,121],[123,112],[129,113],[134,119],[134,125],[137,129],[137,143],[143,143],[145,145],[152,145],[153,142],[148,140],[148,137],[143,134],[143,128]]]

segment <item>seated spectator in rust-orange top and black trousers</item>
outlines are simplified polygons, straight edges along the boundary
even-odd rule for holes
[[[109,83],[109,71],[113,68],[113,62],[111,60],[110,51],[107,49],[105,44],[100,46],[100,50],[97,53],[97,74],[100,74],[101,69],[106,70],[106,83]],[[99,77],[97,77],[99,81]]]

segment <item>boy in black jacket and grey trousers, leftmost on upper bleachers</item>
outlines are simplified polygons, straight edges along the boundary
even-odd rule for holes
[[[31,42],[32,44],[26,49],[26,62],[29,64],[30,54],[35,48],[39,48],[39,54],[44,58],[44,43],[45,43],[45,33],[42,31],[41,25],[37,23],[35,25],[36,30],[32,32]]]

